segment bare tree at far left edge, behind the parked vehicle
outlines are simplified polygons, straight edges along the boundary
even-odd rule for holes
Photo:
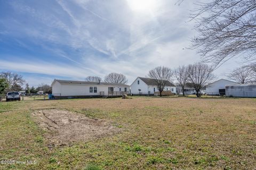
[[[2,72],[0,73],[0,77],[7,80],[10,90],[15,90],[17,89],[17,87],[19,87],[20,89],[23,83],[25,83],[25,80],[23,80],[22,75],[19,75],[17,73]]]

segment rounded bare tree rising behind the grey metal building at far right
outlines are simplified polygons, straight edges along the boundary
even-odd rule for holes
[[[229,75],[228,78],[236,81],[237,83],[247,84],[252,82],[253,72],[251,67],[239,67],[234,69]]]

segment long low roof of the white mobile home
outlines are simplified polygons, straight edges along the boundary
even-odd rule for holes
[[[123,83],[107,83],[107,82],[93,82],[93,81],[74,81],[74,80],[57,80],[54,79],[54,81],[58,81],[60,84],[84,84],[84,85],[107,85],[107,86],[127,86]],[[52,82],[52,84],[54,83]]]

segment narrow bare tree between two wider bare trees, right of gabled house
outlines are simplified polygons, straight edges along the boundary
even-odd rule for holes
[[[174,76],[178,81],[179,86],[182,88],[183,96],[185,96],[184,89],[188,81],[188,67],[185,65],[179,66],[177,69],[175,69]]]

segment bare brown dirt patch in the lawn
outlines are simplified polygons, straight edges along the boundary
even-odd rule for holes
[[[39,126],[48,132],[46,138],[56,145],[87,141],[118,132],[118,129],[107,121],[69,111],[44,109],[34,112],[33,115]]]

